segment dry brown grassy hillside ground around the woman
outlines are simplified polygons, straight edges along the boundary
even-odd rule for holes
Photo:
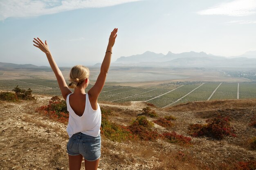
[[[67,170],[66,125],[53,121],[35,109],[47,105],[51,97],[36,96],[36,101],[0,101],[0,170]],[[241,101],[241,102],[240,102]],[[213,101],[214,102],[214,101]],[[175,131],[189,137],[189,124],[205,123],[215,115],[229,115],[237,137],[222,140],[191,137],[193,146],[156,141],[114,142],[102,138],[102,170],[218,170],[238,161],[255,160],[256,151],[248,140],[256,128],[249,121],[256,115],[256,100],[196,102],[173,108],[152,108],[159,117],[173,115],[177,120],[171,128],[154,125],[158,132]],[[113,114],[110,121],[128,126],[146,107],[143,102],[126,104],[101,103]],[[157,118],[150,118],[154,120]],[[82,165],[82,168],[84,166]]]

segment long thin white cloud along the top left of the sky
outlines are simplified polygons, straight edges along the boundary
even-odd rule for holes
[[[0,0],[0,20],[33,17],[83,8],[110,7],[140,0]]]

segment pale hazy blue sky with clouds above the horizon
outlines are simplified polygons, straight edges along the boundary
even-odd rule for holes
[[[118,28],[112,62],[145,51],[256,51],[256,0],[0,0],[0,62],[59,66],[101,62]]]

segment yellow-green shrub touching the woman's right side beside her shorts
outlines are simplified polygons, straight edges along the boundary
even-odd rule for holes
[[[112,123],[108,120],[108,116],[112,115],[111,110],[101,108],[101,134],[112,141],[124,141],[134,139],[130,130],[126,126]]]

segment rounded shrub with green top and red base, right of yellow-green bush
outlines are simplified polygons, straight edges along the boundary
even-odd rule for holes
[[[145,116],[139,116],[136,120],[132,121],[132,124],[128,128],[139,139],[148,141],[159,137],[158,132],[151,129],[152,126],[153,123],[148,121]]]

